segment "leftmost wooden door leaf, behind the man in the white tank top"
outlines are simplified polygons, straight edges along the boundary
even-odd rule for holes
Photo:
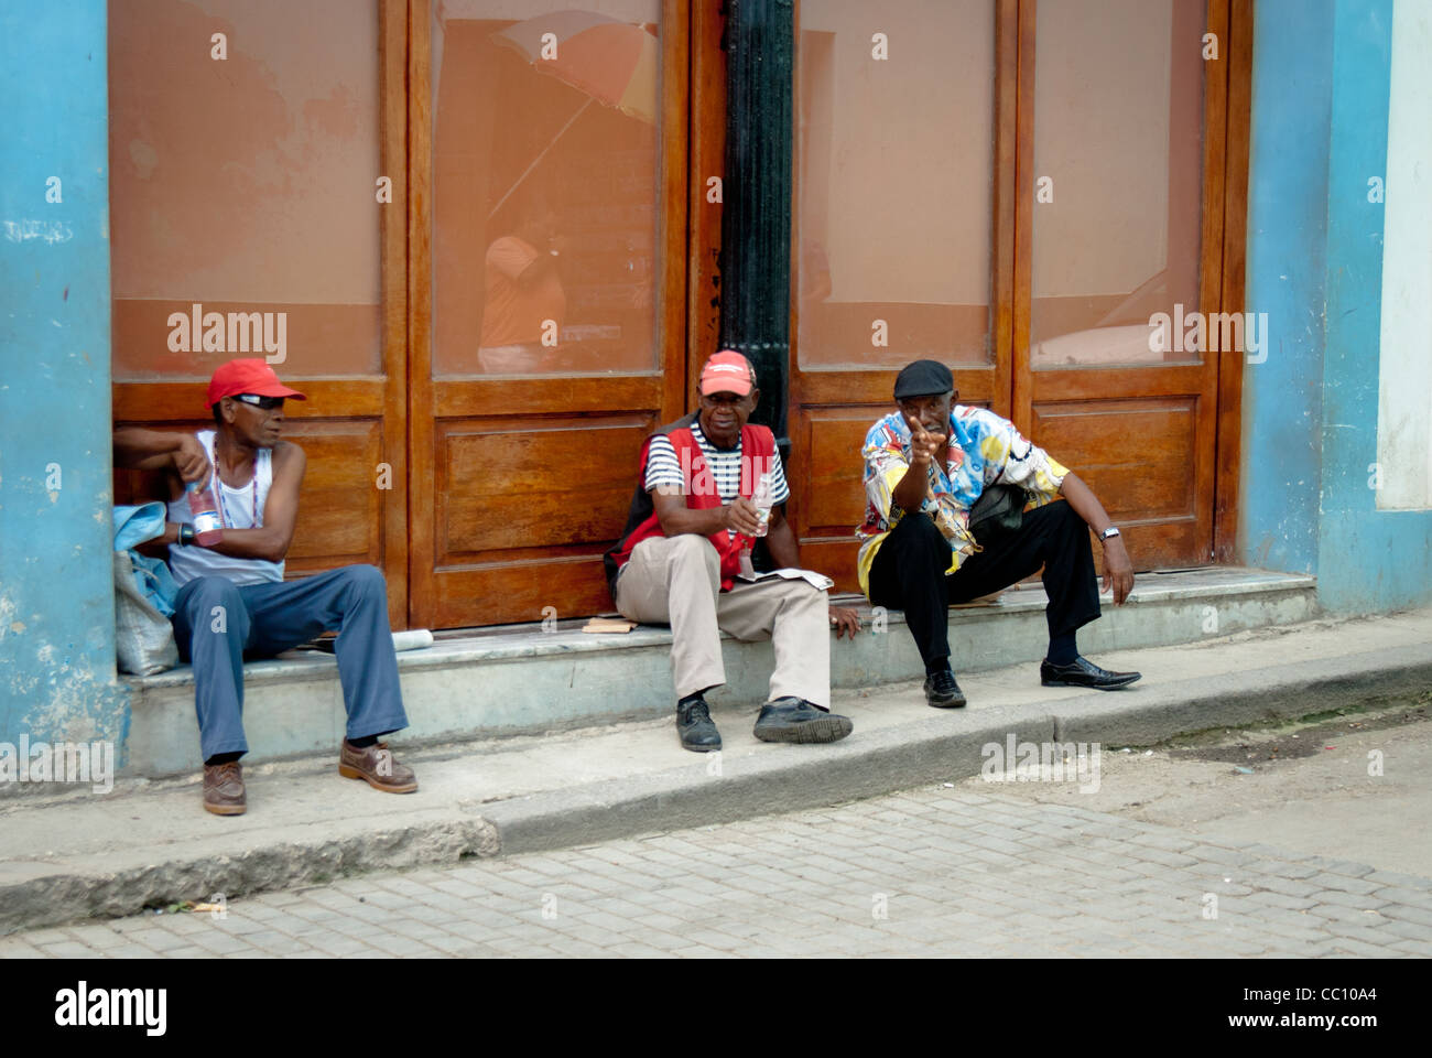
[[[395,628],[408,605],[405,54],[404,0],[109,11],[115,421],[212,427],[209,374],[265,356],[308,396],[285,407],[284,433],[308,456],[286,572],[379,566]],[[179,323],[195,313],[199,333]],[[252,323],[271,324],[272,348]],[[155,482],[122,472],[115,485],[123,503]]]

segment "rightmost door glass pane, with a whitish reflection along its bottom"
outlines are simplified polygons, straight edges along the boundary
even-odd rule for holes
[[[1203,32],[1203,0],[1040,0],[1037,370],[1200,360],[1171,324],[1199,310]]]

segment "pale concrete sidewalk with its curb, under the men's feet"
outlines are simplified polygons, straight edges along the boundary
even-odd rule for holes
[[[249,811],[232,819],[202,810],[198,776],[120,780],[107,796],[87,788],[6,796],[0,930],[955,781],[979,771],[984,744],[1010,734],[1146,745],[1412,694],[1432,685],[1432,611],[1283,625],[1094,659],[1137,668],[1144,680],[1113,694],[1044,688],[1037,664],[1021,664],[962,675],[971,705],[957,711],[928,708],[918,682],[842,692],[835,708],[852,717],[855,733],[826,747],[758,743],[755,710],[719,704],[726,747],[719,756],[684,753],[669,718],[414,753],[397,743],[422,784],[402,797],[338,777],[335,747],[331,756],[246,768]]]

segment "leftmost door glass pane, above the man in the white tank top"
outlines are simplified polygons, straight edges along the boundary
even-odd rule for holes
[[[115,378],[381,373],[377,0],[112,0],[109,85]]]

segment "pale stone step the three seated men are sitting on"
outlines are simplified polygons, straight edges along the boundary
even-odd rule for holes
[[[1113,649],[1167,647],[1213,635],[1306,621],[1316,612],[1312,576],[1239,568],[1140,575],[1130,602],[1106,605],[1080,632],[1080,649],[1098,659]],[[861,602],[871,629],[872,612]],[[1047,598],[1038,585],[997,601],[954,608],[949,642],[961,674],[1044,657]],[[875,632],[831,649],[831,684],[862,688],[924,672],[896,611],[874,615]],[[584,621],[510,625],[444,634],[432,647],[398,655],[411,727],[405,745],[560,731],[591,724],[657,718],[673,708],[666,628],[589,635]],[[773,664],[769,642],[723,644],[727,685],[713,702],[765,701]],[[162,777],[200,767],[189,667],[143,680],[132,690],[129,735],[119,747],[120,774]],[[243,724],[251,763],[328,753],[344,733],[342,690],[331,655],[289,652],[245,665]]]

